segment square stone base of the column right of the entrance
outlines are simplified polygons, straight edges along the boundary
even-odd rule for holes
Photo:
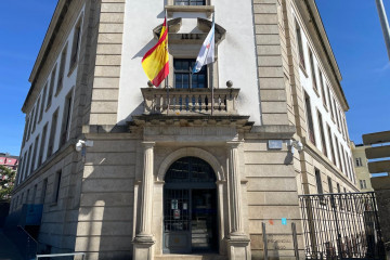
[[[245,234],[231,234],[227,239],[229,260],[250,260],[250,239]]]

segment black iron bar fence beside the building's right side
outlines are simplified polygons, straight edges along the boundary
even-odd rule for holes
[[[307,259],[386,259],[374,192],[299,200]]]

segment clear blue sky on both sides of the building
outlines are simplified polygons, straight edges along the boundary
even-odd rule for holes
[[[390,0],[384,0],[390,16]],[[316,0],[350,110],[350,138],[390,130],[390,63],[375,0]],[[0,152],[20,154],[28,77],[55,0],[0,1]]]

